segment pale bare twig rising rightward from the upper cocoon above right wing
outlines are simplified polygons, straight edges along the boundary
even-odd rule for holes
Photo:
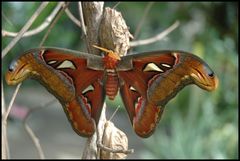
[[[158,35],[156,35],[154,37],[144,39],[144,40],[131,41],[130,46],[135,47],[135,46],[140,46],[140,45],[147,45],[147,44],[151,44],[156,41],[159,41],[159,40],[163,39],[164,37],[166,37],[169,33],[171,33],[178,26],[179,26],[179,21],[176,21],[169,28],[167,28],[166,30],[164,30],[163,32],[159,33]]]

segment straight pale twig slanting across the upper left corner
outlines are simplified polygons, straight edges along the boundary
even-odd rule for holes
[[[26,25],[20,30],[18,35],[8,44],[8,46],[2,51],[2,59],[12,49],[12,47],[22,38],[22,35],[31,27],[36,18],[40,15],[43,9],[48,5],[49,2],[42,2],[39,8],[35,11],[32,17],[28,20]]]

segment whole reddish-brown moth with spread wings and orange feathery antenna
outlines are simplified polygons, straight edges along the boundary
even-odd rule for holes
[[[148,137],[164,106],[183,87],[196,84],[211,91],[218,85],[210,67],[192,54],[157,51],[120,60],[111,50],[97,48],[107,55],[76,56],[58,48],[30,50],[10,64],[6,81],[14,85],[31,77],[41,82],[60,101],[73,129],[87,137],[94,133],[92,119],[98,123],[105,91],[114,99],[120,87],[135,132]]]

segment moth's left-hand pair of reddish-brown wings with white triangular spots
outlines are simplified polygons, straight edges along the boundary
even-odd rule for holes
[[[103,71],[87,68],[87,55],[83,58],[62,49],[42,48],[11,63],[6,81],[17,84],[35,78],[61,102],[73,129],[81,136],[91,136],[92,118],[98,121],[105,99],[102,76]]]

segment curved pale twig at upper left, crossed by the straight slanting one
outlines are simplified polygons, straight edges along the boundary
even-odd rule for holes
[[[28,37],[28,36],[36,35],[36,34],[40,33],[41,31],[43,31],[52,22],[52,20],[54,19],[54,17],[58,13],[58,11],[61,9],[63,4],[64,4],[64,2],[59,2],[58,5],[53,10],[53,12],[45,19],[45,21],[40,26],[38,26],[35,29],[32,29],[32,30],[29,30],[29,31],[25,32],[22,35],[22,37]],[[9,32],[9,31],[6,31],[6,30],[2,30],[2,36],[3,37],[4,36],[16,37],[17,34],[18,34],[18,32]]]

